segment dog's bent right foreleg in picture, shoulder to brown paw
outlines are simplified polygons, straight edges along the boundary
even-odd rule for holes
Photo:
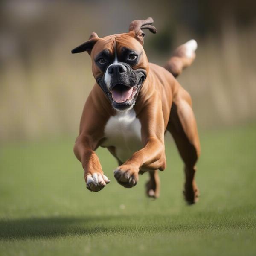
[[[159,98],[152,96],[138,116],[144,147],[119,166],[114,176],[119,184],[130,188],[137,184],[140,168],[161,170],[166,168],[164,148],[164,120]]]

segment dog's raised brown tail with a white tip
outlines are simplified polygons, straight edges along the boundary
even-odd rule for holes
[[[164,68],[171,72],[173,76],[179,76],[182,70],[189,67],[194,61],[196,49],[197,42],[194,39],[180,45],[165,64]]]

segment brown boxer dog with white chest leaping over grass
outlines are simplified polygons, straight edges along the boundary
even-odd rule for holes
[[[87,189],[100,191],[110,182],[95,150],[108,148],[119,167],[117,182],[135,186],[139,174],[149,173],[146,193],[157,198],[158,170],[166,168],[164,134],[169,131],[184,162],[184,197],[198,200],[195,163],[200,154],[197,125],[189,93],[175,79],[195,59],[197,43],[176,49],[165,67],[149,63],[143,49],[143,29],[156,33],[153,19],[134,20],[129,32],[89,40],[72,50],[88,52],[96,80],[84,105],[74,153],[81,161]]]

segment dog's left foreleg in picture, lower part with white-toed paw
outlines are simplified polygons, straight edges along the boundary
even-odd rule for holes
[[[76,139],[74,153],[84,168],[84,180],[90,191],[98,192],[110,182],[102,171],[99,157],[93,150],[96,143],[89,135],[81,134]]]

